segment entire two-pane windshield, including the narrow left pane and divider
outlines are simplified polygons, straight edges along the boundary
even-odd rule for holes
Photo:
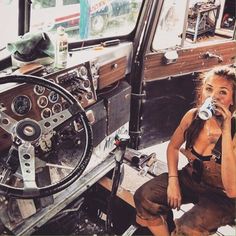
[[[134,29],[142,0],[32,0],[29,31],[54,35],[59,26],[68,34],[69,42],[120,37]],[[0,59],[9,55],[6,45],[18,40],[19,8],[23,0],[0,0]],[[22,10],[22,7],[21,7]],[[7,30],[6,30],[7,27]]]

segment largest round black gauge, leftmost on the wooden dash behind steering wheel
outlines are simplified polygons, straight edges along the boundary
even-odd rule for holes
[[[32,107],[31,100],[26,95],[19,95],[15,97],[11,104],[12,111],[19,116],[26,115]]]

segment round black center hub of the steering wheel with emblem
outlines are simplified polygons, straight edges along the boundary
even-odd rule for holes
[[[17,123],[16,134],[18,138],[24,141],[37,141],[41,136],[41,128],[36,121],[31,119],[24,119]]]

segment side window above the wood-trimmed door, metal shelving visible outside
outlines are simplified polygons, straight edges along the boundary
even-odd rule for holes
[[[155,32],[152,49],[189,47],[215,40],[232,40],[235,1],[166,0]]]

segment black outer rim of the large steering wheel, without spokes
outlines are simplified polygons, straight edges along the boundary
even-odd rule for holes
[[[57,92],[71,105],[70,112],[73,115],[79,116],[85,131],[86,142],[81,161],[65,178],[63,178],[59,182],[50,184],[45,187],[40,187],[36,189],[35,192],[34,191],[25,192],[24,189],[22,188],[12,187],[0,183],[0,190],[2,191],[1,193],[17,198],[36,198],[36,197],[45,197],[60,192],[61,190],[71,185],[75,180],[77,180],[81,176],[81,174],[87,167],[92,155],[92,149],[93,149],[92,128],[86,116],[85,110],[69,91],[67,91],[60,85],[50,80],[32,75],[8,75],[0,78],[0,85],[5,83],[18,83],[18,84],[26,83],[26,84],[41,85],[52,91]]]

